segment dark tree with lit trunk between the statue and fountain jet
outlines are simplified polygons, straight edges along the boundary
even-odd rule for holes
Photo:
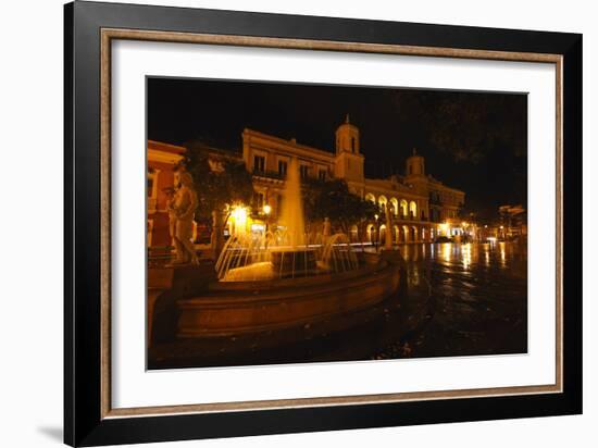
[[[200,142],[187,146],[183,163],[196,184],[196,219],[211,220],[212,252],[216,259],[224,246],[223,229],[233,207],[248,204],[253,198],[251,174],[241,160]]]

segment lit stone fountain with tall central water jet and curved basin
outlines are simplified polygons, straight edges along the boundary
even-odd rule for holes
[[[326,321],[372,307],[399,287],[399,269],[377,254],[356,253],[342,233],[306,235],[299,166],[289,163],[285,200],[273,232],[239,232],[215,264],[217,282],[200,297],[178,300],[179,337],[221,337]],[[344,319],[332,319],[345,315]]]

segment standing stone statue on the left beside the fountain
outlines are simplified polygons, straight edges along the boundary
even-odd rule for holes
[[[173,216],[171,229],[174,231],[174,247],[176,259],[174,264],[198,264],[191,236],[194,231],[194,215],[198,204],[197,194],[194,188],[194,178],[186,171],[175,173],[175,184],[178,189],[172,200],[169,201],[169,215]]]

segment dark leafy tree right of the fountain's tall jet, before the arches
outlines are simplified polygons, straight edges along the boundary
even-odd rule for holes
[[[303,209],[308,221],[331,220],[333,226],[349,234],[351,225],[373,219],[379,209],[376,204],[349,191],[341,179],[307,179],[303,185]]]

